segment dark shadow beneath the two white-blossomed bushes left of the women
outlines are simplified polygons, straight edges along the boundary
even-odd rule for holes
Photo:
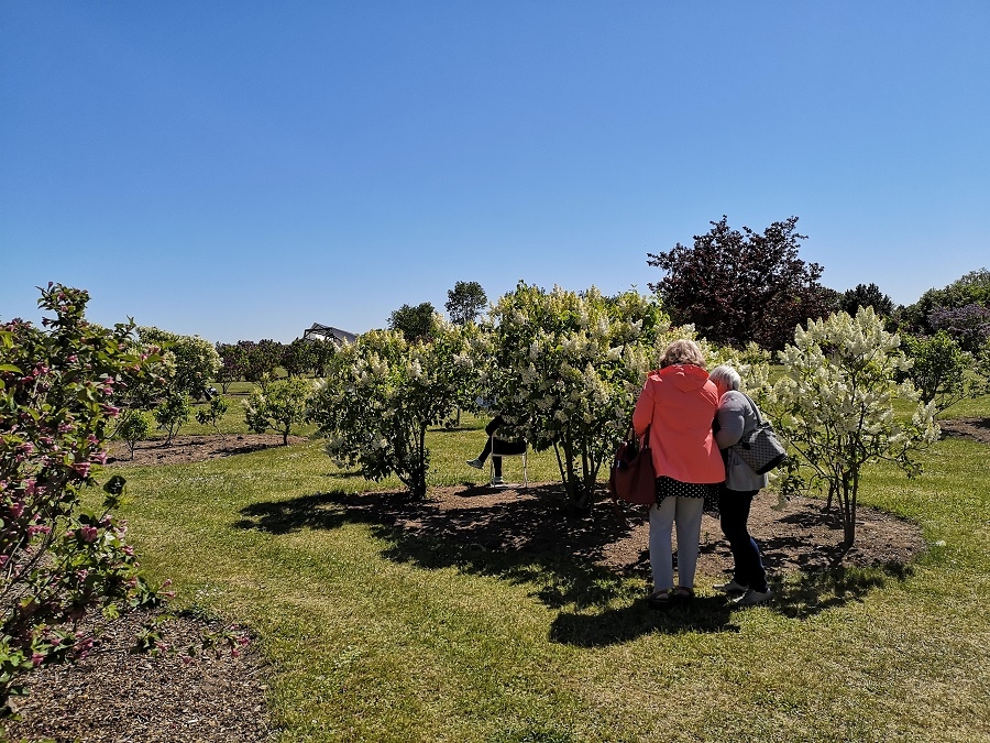
[[[469,490],[463,505],[437,507],[405,493],[314,493],[286,501],[252,503],[237,528],[287,534],[366,524],[388,543],[383,556],[426,569],[457,567],[534,586],[532,596],[553,608],[603,605],[631,591],[629,577],[604,565],[607,546],[632,526],[596,507],[587,517],[569,514],[554,485],[515,491],[514,499],[476,505],[472,498],[496,489]]]

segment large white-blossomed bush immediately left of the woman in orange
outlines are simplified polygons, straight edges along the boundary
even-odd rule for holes
[[[651,297],[546,292],[520,282],[491,314],[485,396],[537,450],[553,447],[571,504],[586,509],[629,427],[646,373],[683,335]]]

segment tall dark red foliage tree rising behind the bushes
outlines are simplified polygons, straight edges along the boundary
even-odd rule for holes
[[[691,323],[698,335],[716,343],[744,347],[756,341],[780,349],[794,328],[827,314],[828,292],[818,284],[822,266],[798,258],[798,217],[773,222],[758,233],[712,222],[694,236],[694,244],[666,253],[647,253],[647,264],[666,272],[650,288],[679,325]]]

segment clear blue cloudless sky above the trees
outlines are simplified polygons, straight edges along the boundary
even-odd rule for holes
[[[990,2],[0,2],[2,319],[646,292],[722,215],[902,304],[990,265]]]

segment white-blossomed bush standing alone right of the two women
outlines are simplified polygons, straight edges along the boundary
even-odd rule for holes
[[[910,381],[895,381],[911,364],[900,343],[867,307],[799,326],[794,345],[779,353],[784,375],[767,405],[800,457],[785,488],[801,487],[809,470],[824,482],[838,499],[847,546],[856,538],[864,466],[887,460],[913,477],[920,467],[912,455],[938,437],[934,403],[919,402],[910,419],[894,414],[894,400],[919,401]]]

